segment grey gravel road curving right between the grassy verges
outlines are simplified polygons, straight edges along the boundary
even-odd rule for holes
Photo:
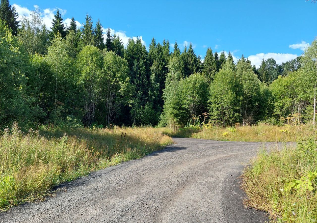
[[[266,213],[243,206],[245,194],[239,187],[243,168],[262,143],[174,142],[139,160],[63,184],[55,197],[0,213],[0,222],[268,221]]]

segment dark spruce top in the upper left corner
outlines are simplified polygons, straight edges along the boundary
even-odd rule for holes
[[[4,20],[12,31],[12,35],[16,36],[19,29],[19,22],[16,21],[18,14],[16,8],[11,6],[9,0],[1,0],[0,3],[0,20]]]

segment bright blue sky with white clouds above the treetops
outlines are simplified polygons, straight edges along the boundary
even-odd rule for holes
[[[38,7],[44,23],[51,25],[57,8],[65,23],[74,16],[78,25],[88,12],[94,23],[99,18],[124,43],[139,36],[148,46],[177,40],[181,49],[191,42],[197,55],[231,51],[238,59],[243,54],[259,65],[262,58],[285,62],[302,54],[302,49],[317,36],[317,3],[305,0],[266,1],[40,1],[10,0],[20,15]],[[172,46],[171,46],[172,47]]]

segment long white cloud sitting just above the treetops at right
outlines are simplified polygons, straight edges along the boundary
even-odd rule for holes
[[[297,55],[289,53],[258,53],[256,55],[248,56],[248,59],[251,61],[251,64],[255,64],[258,68],[261,65],[262,59],[267,60],[272,57],[276,60],[276,63],[281,64],[282,62],[287,62],[296,58]]]

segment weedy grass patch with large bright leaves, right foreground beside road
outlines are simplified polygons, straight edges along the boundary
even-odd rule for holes
[[[246,204],[274,222],[317,222],[316,136],[296,148],[261,151],[243,174]]]

